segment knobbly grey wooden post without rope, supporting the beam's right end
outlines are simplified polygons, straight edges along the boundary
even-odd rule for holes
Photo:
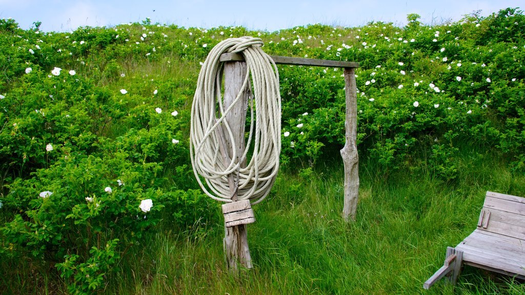
[[[341,150],[344,163],[344,207],[343,218],[355,221],[359,198],[359,155],[357,149],[357,93],[355,69],[344,68],[346,117],[344,120],[345,143]]]

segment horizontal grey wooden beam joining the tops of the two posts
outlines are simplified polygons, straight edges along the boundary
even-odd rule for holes
[[[338,61],[302,57],[288,57],[270,55],[271,59],[278,65],[295,65],[295,66],[313,66],[313,67],[330,67],[330,68],[359,68],[359,62]],[[241,61],[244,56],[238,53],[225,53],[220,55],[220,61]]]

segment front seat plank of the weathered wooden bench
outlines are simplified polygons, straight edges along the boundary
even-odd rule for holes
[[[456,246],[456,249],[463,251],[464,262],[474,262],[479,265],[525,275],[525,270],[523,269],[525,265],[515,259],[508,259],[494,252],[472,247],[467,244],[459,244]]]

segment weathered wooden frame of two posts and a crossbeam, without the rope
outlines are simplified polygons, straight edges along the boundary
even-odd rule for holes
[[[312,58],[297,58],[285,56],[270,56],[276,64],[280,65],[297,65],[297,66],[316,66],[316,67],[334,67],[344,68],[344,82],[345,82],[345,145],[341,150],[341,156],[344,163],[344,207],[343,218],[355,220],[356,208],[358,204],[359,192],[359,155],[356,145],[357,132],[357,95],[355,84],[355,69],[359,67],[357,62],[350,61],[335,61]],[[246,62],[244,57],[237,53],[226,53],[220,56],[220,61],[225,62],[224,67],[224,106],[227,108],[236,98],[246,75]],[[249,90],[243,95],[243,101],[238,103],[239,110],[232,112],[226,118],[228,124],[233,132],[236,132],[236,141],[242,144],[239,154],[244,152],[244,120],[246,118],[246,108],[248,99],[251,97]],[[243,110],[244,108],[244,110]],[[243,112],[244,111],[244,112]],[[244,117],[243,117],[244,116]],[[236,129],[236,130],[234,130]],[[231,149],[231,146],[229,146]],[[232,193],[234,188],[230,188]],[[236,196],[232,201],[237,201]],[[224,205],[223,205],[224,206]],[[224,211],[223,207],[223,211]],[[231,214],[229,212],[225,213]],[[250,213],[253,216],[253,212]],[[228,219],[229,220],[229,219]],[[250,219],[254,222],[255,218]],[[233,225],[225,221],[225,237],[224,237],[224,251],[226,256],[226,263],[230,270],[237,270],[237,264],[240,263],[245,268],[251,268],[251,257],[248,248],[248,238],[246,231],[246,224]]]

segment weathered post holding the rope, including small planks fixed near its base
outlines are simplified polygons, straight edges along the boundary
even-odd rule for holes
[[[230,104],[235,100],[237,94],[243,87],[243,81],[246,77],[246,62],[244,61],[230,61],[225,62],[224,65],[224,108],[227,109]],[[244,142],[244,124],[246,122],[246,111],[248,108],[248,100],[251,99],[251,87],[248,83],[246,90],[241,94],[240,101],[235,104],[232,111],[226,115],[226,121],[231,128],[235,142],[229,142],[228,136],[226,137],[226,145],[230,159],[233,156],[233,146],[238,146],[236,162],[239,161],[239,157],[243,155],[245,149]],[[227,134],[225,128],[223,128],[224,134]],[[246,166],[246,161],[241,164],[241,167]],[[222,205],[224,214],[224,254],[226,264],[229,270],[237,270],[240,264],[244,268],[251,268],[251,257],[250,249],[248,248],[248,235],[246,231],[246,224],[255,222],[253,217],[253,210],[250,206],[250,201],[245,200],[237,202],[237,187],[239,182],[239,175],[230,174],[228,176],[230,193],[232,193],[232,201],[234,203],[227,203]],[[239,216],[244,214],[244,216]],[[248,215],[246,215],[248,214]],[[246,217],[246,218],[243,218]],[[236,221],[230,221],[237,219]],[[248,219],[248,220],[247,220]],[[239,224],[244,223],[244,224]]]

